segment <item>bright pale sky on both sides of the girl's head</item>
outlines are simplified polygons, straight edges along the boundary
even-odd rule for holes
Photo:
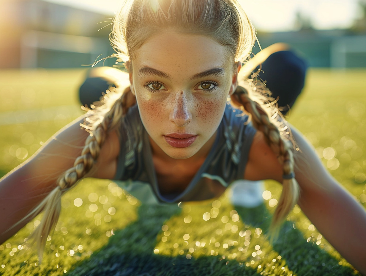
[[[114,14],[122,0],[46,0],[90,11]],[[238,0],[254,27],[266,32],[296,30],[296,14],[309,18],[320,30],[347,29],[362,17],[360,0]],[[364,0],[363,0],[364,1]]]

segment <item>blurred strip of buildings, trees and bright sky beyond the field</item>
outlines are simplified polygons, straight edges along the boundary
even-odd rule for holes
[[[288,43],[311,67],[366,66],[365,0],[240,2],[258,30],[262,48]],[[107,21],[121,3],[0,0],[0,68],[80,67],[101,54],[112,54]]]

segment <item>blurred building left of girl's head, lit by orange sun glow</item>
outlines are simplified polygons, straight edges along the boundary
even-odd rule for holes
[[[98,31],[105,17],[43,0],[0,0],[0,68],[81,67],[106,57],[111,29]]]

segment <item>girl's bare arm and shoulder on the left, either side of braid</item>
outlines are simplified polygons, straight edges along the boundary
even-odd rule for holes
[[[76,119],[61,129],[36,154],[0,180],[0,243],[27,222],[3,234],[37,206],[56,187],[59,176],[73,167],[89,136],[80,128],[81,122],[83,118]],[[96,169],[87,176],[113,178],[113,162],[119,151],[116,141],[112,131],[101,148]]]

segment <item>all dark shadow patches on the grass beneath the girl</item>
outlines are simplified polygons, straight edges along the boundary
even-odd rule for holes
[[[245,224],[260,227],[264,232],[268,232],[270,214],[264,205],[254,209],[236,207],[235,210]],[[169,257],[154,254],[161,225],[179,213],[180,209],[175,205],[140,206],[137,221],[117,231],[106,246],[91,255],[88,260],[78,263],[69,275],[259,275],[254,268],[235,261],[226,262],[219,256],[187,260],[185,255]],[[338,261],[324,250],[304,240],[303,234],[294,229],[289,222],[282,227],[279,238],[273,243],[273,250],[286,260],[288,268],[298,276],[354,275],[351,268],[340,266]]]

